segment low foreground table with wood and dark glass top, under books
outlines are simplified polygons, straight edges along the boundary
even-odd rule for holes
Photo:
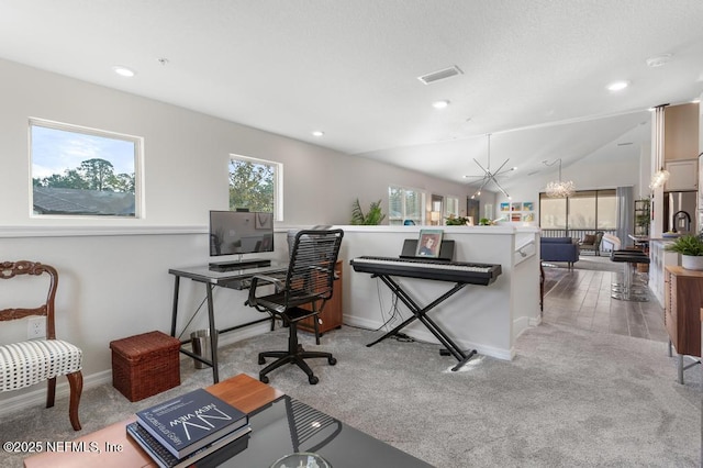
[[[270,467],[292,453],[313,452],[334,468],[404,467],[431,468],[413,457],[370,435],[350,427],[272,387],[241,374],[205,390],[249,415],[252,432],[244,444],[231,443],[197,461],[197,468]],[[125,426],[135,416],[112,424],[76,442],[102,448],[97,452],[44,453],[24,460],[25,468],[155,467],[148,455],[126,435]],[[121,446],[121,452],[104,447]],[[278,467],[278,465],[277,465]]]

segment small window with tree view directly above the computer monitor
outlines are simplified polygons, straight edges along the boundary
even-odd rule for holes
[[[274,213],[283,219],[283,166],[264,159],[232,155],[230,157],[230,210],[248,209]]]

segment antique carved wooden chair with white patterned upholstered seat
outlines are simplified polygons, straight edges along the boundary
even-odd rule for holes
[[[0,322],[32,315],[44,316],[46,317],[46,337],[0,345],[0,391],[19,390],[46,380],[48,387],[46,408],[52,408],[56,394],[56,377],[66,376],[70,387],[68,409],[70,424],[75,431],[80,431],[78,404],[83,387],[80,371],[82,352],[70,343],[56,339],[54,300],[58,285],[58,272],[54,267],[40,263],[24,260],[0,263],[0,280],[15,279],[20,288],[21,281],[16,280],[20,277],[33,281],[36,279],[47,280],[46,299],[41,305],[33,308],[1,309]],[[24,286],[22,287],[24,288]],[[34,303],[31,299],[27,303]],[[2,303],[0,307],[5,307],[5,304]]]

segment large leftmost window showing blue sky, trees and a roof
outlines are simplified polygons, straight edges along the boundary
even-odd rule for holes
[[[30,121],[35,215],[140,216],[142,138]]]

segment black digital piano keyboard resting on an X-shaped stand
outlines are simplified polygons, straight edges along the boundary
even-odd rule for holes
[[[362,256],[352,259],[349,264],[355,271],[371,275],[402,276],[483,286],[492,283],[501,275],[500,265],[467,261]]]

